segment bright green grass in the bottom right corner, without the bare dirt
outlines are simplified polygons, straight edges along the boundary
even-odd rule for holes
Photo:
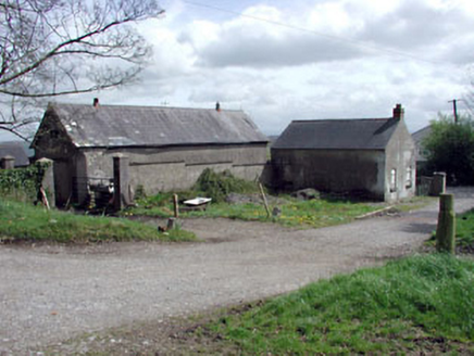
[[[473,300],[473,262],[424,255],[310,284],[207,328],[245,355],[474,352]]]

